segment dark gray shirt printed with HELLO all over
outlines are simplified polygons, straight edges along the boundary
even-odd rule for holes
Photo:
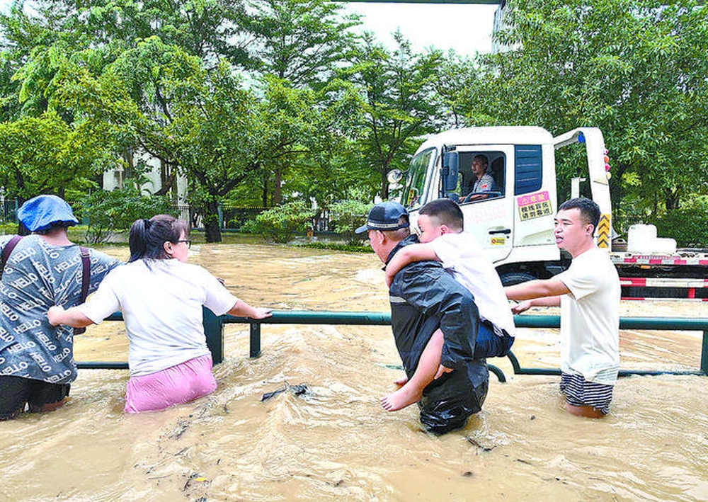
[[[0,250],[13,236],[0,237]],[[89,293],[122,262],[89,249]],[[0,375],[64,384],[76,379],[74,329],[47,321],[52,305],[81,300],[83,266],[78,245],[54,246],[38,235],[13,249],[0,282]]]

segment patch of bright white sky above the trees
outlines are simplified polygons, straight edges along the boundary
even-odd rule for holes
[[[0,11],[6,11],[10,3],[0,0]],[[391,34],[400,28],[416,52],[427,47],[455,49],[461,55],[491,51],[496,5],[352,2],[348,8],[363,14],[364,29],[389,46],[393,45]]]

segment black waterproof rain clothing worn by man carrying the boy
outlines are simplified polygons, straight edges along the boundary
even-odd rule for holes
[[[416,236],[401,241],[399,249],[416,244]],[[433,433],[464,427],[481,409],[489,388],[486,360],[474,359],[479,312],[472,293],[434,261],[418,261],[396,273],[389,290],[396,348],[410,378],[423,349],[438,327],[445,338],[440,363],[454,369],[423,390],[421,422]]]

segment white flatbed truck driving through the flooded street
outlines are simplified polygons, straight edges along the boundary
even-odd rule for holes
[[[587,177],[573,178],[572,196],[583,193],[600,206],[595,238],[619,271],[622,296],[708,301],[706,251],[676,249],[673,239],[657,237],[656,227],[645,224],[629,227],[626,241],[613,240],[609,159],[596,127],[558,137],[542,127],[469,127],[433,135],[418,148],[401,180],[401,203],[414,223],[429,200],[459,202],[464,231],[489,253],[503,283],[549,278],[570,263],[553,230],[563,202],[556,190],[555,152],[571,144],[584,146],[588,159]],[[486,164],[484,180],[473,161]]]

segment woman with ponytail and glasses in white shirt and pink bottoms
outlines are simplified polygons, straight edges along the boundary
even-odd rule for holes
[[[129,341],[126,413],[161,410],[214,392],[202,305],[217,316],[270,316],[270,309],[251,307],[207,270],[187,263],[190,245],[183,220],[139,219],[130,228],[127,265],[112,270],[86,303],[47,313],[54,326],[83,327],[122,312]]]

